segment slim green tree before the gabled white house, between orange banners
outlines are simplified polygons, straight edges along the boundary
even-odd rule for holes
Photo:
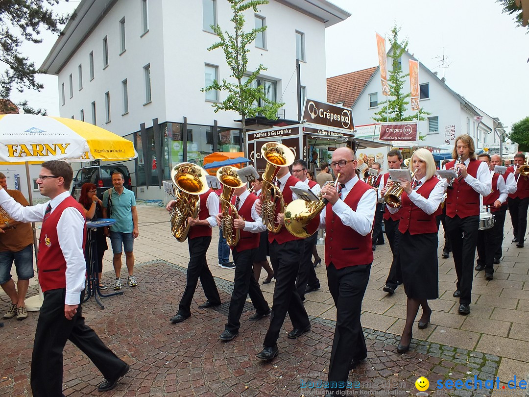
[[[391,70],[388,70],[388,86],[389,86],[389,96],[388,100],[384,102],[379,102],[379,105],[382,106],[375,114],[377,116],[372,117],[372,120],[377,122],[387,122],[387,121],[413,121],[413,120],[425,120],[422,114],[431,114],[424,110],[419,110],[414,114],[406,115],[408,110],[409,101],[408,98],[411,97],[411,93],[404,93],[404,82],[405,78],[409,76],[409,73],[404,73],[402,67],[399,65],[399,59],[406,52],[408,48],[408,41],[404,40],[399,42],[398,32],[400,28],[393,26],[391,29],[391,37],[389,38],[390,55],[391,58]],[[421,135],[419,132],[419,139],[424,140],[426,137]]]

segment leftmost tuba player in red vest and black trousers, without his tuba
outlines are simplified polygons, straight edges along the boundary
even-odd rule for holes
[[[191,227],[187,234],[189,264],[186,272],[186,289],[180,300],[178,312],[170,318],[173,323],[182,322],[191,316],[191,301],[193,301],[198,278],[200,278],[207,298],[205,303],[198,305],[198,308],[211,308],[221,304],[221,297],[218,295],[215,280],[206,260],[206,252],[209,243],[211,243],[211,229],[217,225],[218,196],[210,188],[206,193],[200,194],[199,197],[200,209],[197,218],[189,217],[187,220]],[[175,200],[170,201],[166,207],[167,211],[171,212],[175,205]]]

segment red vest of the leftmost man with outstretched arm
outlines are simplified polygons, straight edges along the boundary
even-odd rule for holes
[[[68,207],[74,207],[85,218],[83,206],[79,204],[74,197],[66,197],[50,213],[45,222],[42,223],[39,238],[39,283],[42,292],[66,288],[66,259],[62,254],[59,246],[59,237],[57,236],[57,223],[61,218],[62,211]],[[86,242],[86,222],[83,232],[83,250]]]

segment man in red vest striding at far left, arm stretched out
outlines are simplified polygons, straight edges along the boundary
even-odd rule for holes
[[[42,164],[37,184],[51,201],[24,207],[0,187],[0,205],[16,221],[42,222],[39,241],[39,283],[44,293],[33,355],[31,390],[33,396],[61,396],[62,350],[70,340],[92,360],[105,381],[98,391],[111,390],[129,371],[85,324],[81,311],[86,261],[86,222],[83,207],[70,196],[73,172],[65,161]]]

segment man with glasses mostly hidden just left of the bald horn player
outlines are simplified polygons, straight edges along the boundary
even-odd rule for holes
[[[316,197],[320,195],[320,185],[315,181],[309,181],[307,178],[307,162],[305,160],[296,160],[292,163],[292,175],[306,183]],[[316,247],[317,239],[318,233],[314,233],[311,237],[307,237],[304,242],[304,253],[299,264],[296,281],[296,288],[302,301],[305,300],[306,293],[320,289],[320,280],[318,280],[312,264],[312,252]]]

